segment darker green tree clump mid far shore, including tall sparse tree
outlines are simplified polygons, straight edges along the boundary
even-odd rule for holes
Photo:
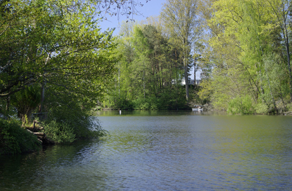
[[[168,0],[159,17],[122,25],[117,39],[120,60],[103,106],[190,108],[198,90],[189,84],[190,70],[202,47],[198,5],[195,0]]]

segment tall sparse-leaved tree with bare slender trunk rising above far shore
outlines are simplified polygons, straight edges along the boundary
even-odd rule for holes
[[[194,52],[197,50],[194,47],[198,44],[202,32],[197,7],[197,0],[167,0],[161,11],[161,18],[171,36],[170,41],[181,51],[179,57],[184,68],[187,100],[190,98],[188,70],[196,57]]]

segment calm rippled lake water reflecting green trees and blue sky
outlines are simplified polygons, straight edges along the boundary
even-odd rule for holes
[[[0,158],[0,190],[291,190],[292,116],[104,111],[109,135]]]

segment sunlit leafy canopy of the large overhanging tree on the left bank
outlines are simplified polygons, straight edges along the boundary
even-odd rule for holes
[[[113,30],[100,31],[96,4],[90,0],[9,0],[4,5],[13,11],[0,14],[0,97],[34,86],[14,96],[17,107],[23,98],[32,108],[40,96],[30,99],[27,95],[39,93],[37,84],[94,101],[102,97],[104,79],[111,80],[117,58],[112,52]]]

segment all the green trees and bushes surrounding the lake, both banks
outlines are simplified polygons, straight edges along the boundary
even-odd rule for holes
[[[291,0],[166,0],[119,35],[101,30],[143,3],[0,1],[0,154],[33,119],[54,142],[100,136],[96,108],[292,110]]]

